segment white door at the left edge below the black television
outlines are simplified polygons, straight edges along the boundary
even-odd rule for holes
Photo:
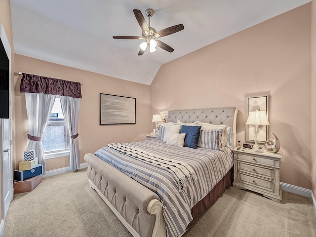
[[[2,200],[4,217],[13,198],[12,152],[11,152],[11,128],[10,118],[1,118],[2,135]]]

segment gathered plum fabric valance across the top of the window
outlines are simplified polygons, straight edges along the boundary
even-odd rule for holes
[[[21,92],[44,93],[81,98],[80,82],[47,78],[23,73],[20,85]]]

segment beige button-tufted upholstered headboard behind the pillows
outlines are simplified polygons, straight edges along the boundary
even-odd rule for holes
[[[208,122],[215,125],[227,125],[232,127],[232,146],[236,147],[236,122],[238,110],[235,107],[171,110],[168,113],[167,122],[189,123],[195,121]]]

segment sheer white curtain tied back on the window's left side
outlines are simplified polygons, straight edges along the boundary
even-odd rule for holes
[[[46,172],[46,161],[41,136],[47,126],[56,95],[44,93],[25,93],[26,112],[28,115],[29,132],[27,150],[34,149],[35,157],[43,165],[43,174]]]

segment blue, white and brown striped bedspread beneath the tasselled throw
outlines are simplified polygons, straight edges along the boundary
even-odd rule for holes
[[[191,208],[205,197],[233,166],[232,148],[223,151],[204,148],[192,149],[166,145],[157,140],[125,143],[129,147],[156,153],[162,157],[186,162],[197,175],[197,180],[179,192],[170,172],[131,158],[110,147],[103,147],[95,155],[154,191],[163,204],[163,217],[169,237],[182,235],[193,220]]]

